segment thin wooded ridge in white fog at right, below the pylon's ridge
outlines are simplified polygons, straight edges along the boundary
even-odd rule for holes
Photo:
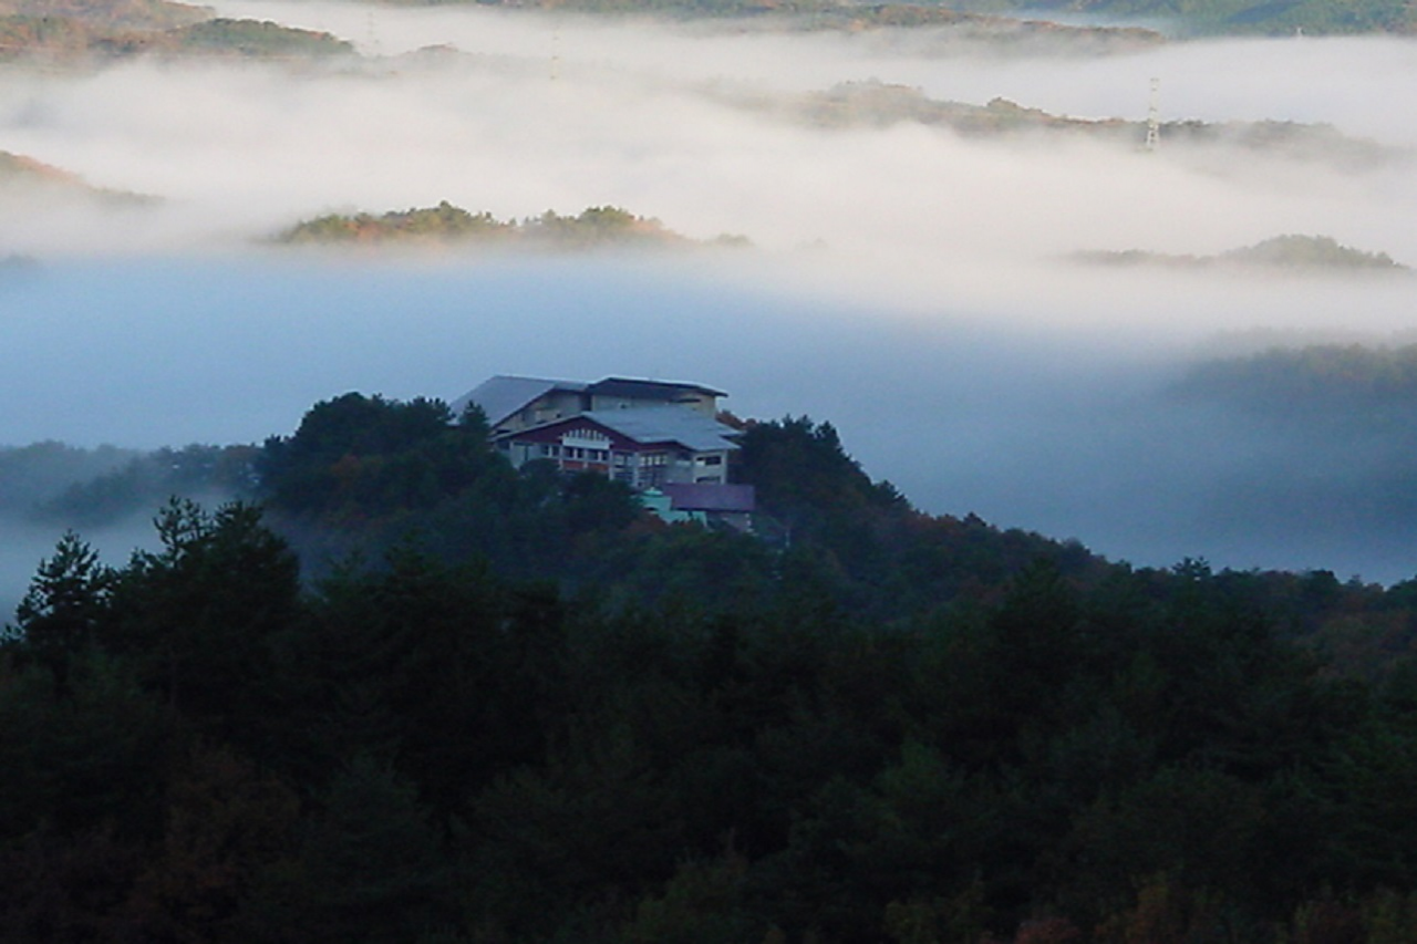
[[[1074,252],[1076,262],[1176,269],[1282,269],[1287,272],[1410,272],[1386,252],[1365,252],[1325,235],[1281,235],[1219,255],[1168,255],[1142,249]]]

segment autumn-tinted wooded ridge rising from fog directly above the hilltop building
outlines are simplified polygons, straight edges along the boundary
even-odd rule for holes
[[[547,210],[521,221],[497,220],[490,213],[469,213],[446,200],[436,207],[371,213],[329,214],[306,220],[275,238],[288,244],[459,244],[589,249],[599,247],[704,245],[666,228],[659,220],[638,217],[619,207],[588,207],[578,215]],[[743,245],[743,237],[721,235],[713,245]]]

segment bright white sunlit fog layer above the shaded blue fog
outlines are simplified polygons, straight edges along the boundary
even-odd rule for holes
[[[951,264],[1080,248],[1217,252],[1323,232],[1417,262],[1410,162],[1318,160],[1083,140],[962,140],[918,125],[820,129],[728,94],[880,81],[938,99],[995,96],[1141,120],[1328,122],[1393,147],[1417,61],[1394,40],[1178,44],[1098,58],[928,55],[908,34],[727,34],[466,7],[218,3],[225,16],[323,28],[370,57],[326,67],[126,62],[0,85],[7,147],[159,211],[0,225],[14,251],[220,249],[332,210],[449,200],[499,217],[616,204],[687,235],[767,251],[825,244],[874,286],[928,305]],[[408,55],[442,44],[441,55]],[[904,259],[905,266],[891,265]],[[901,268],[914,272],[901,279]],[[888,300],[888,299],[887,299]]]

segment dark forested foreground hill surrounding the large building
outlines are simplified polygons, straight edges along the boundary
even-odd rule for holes
[[[434,400],[346,394],[254,459],[266,520],[174,502],[116,567],[65,537],[16,614],[4,940],[1386,944],[1417,916],[1410,585],[925,516],[806,418],[745,428],[761,537],[513,472]],[[1295,645],[1325,626],[1390,649]]]

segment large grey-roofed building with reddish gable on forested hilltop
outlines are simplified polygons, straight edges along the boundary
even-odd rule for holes
[[[744,527],[754,495],[751,486],[728,481],[740,431],[717,420],[718,398],[727,395],[662,380],[497,376],[452,407],[458,412],[479,407],[493,445],[516,468],[543,459],[563,472],[595,472],[639,492],[677,490],[676,510],[682,505]]]

